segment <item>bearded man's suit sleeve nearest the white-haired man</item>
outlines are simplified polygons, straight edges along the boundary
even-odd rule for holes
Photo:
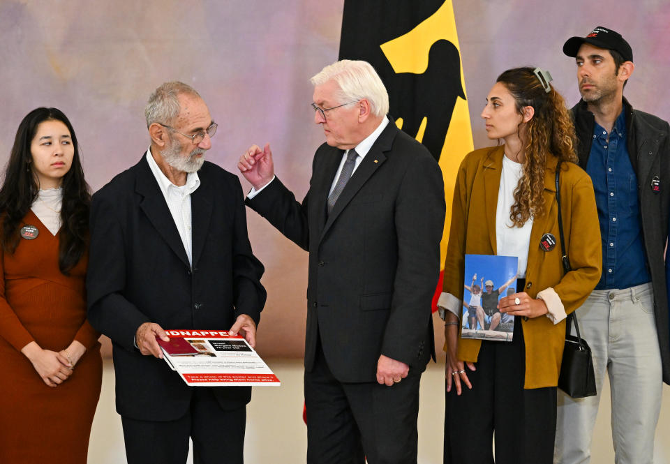
[[[260,312],[265,306],[267,294],[260,283],[263,265],[251,251],[248,230],[246,227],[246,209],[242,186],[237,177],[235,195],[235,223],[233,232],[233,288],[235,316],[246,314],[258,325]]]

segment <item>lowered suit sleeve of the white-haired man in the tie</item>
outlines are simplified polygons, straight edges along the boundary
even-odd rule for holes
[[[432,324],[431,301],[440,275],[445,225],[444,181],[431,156],[417,156],[409,163],[394,223],[398,265],[381,353],[412,366]]]

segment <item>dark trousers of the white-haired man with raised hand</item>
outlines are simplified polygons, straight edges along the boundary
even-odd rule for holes
[[[416,464],[421,372],[392,387],[342,383],[318,343],[305,373],[308,464]]]

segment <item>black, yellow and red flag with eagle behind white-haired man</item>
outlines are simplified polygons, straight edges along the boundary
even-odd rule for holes
[[[472,128],[452,0],[345,0],[340,59],[362,59],[389,91],[390,114],[440,163],[447,218],[461,160],[472,151]],[[442,292],[442,273],[433,311]]]

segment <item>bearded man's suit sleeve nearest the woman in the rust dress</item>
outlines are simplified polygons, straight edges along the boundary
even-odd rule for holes
[[[136,350],[137,328],[151,322],[124,295],[128,263],[119,211],[101,193],[91,204],[91,248],[87,273],[88,317],[91,325],[114,343]]]

